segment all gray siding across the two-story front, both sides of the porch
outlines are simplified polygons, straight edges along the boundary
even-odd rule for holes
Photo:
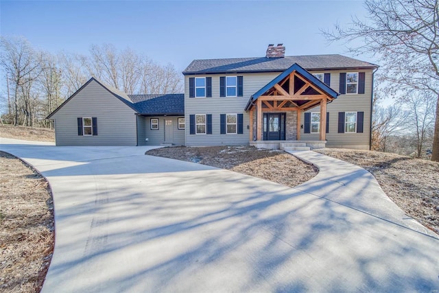
[[[329,133],[327,134],[327,146],[339,148],[369,148],[370,139],[370,106],[372,95],[372,70],[360,70],[366,72],[365,93],[355,95],[340,95],[332,103],[328,104]],[[340,72],[359,72],[358,70],[343,71],[310,71],[311,73],[331,73],[331,88],[340,91]],[[185,116],[186,119],[186,144],[187,145],[244,145],[249,142],[247,126],[249,124],[248,113],[244,108],[251,95],[259,91],[265,84],[271,82],[278,73],[246,73],[246,74],[217,74],[217,75],[196,75],[212,77],[212,97],[189,98],[189,78],[195,75],[185,76]],[[243,97],[219,97],[220,76],[244,76]],[[337,133],[338,112],[364,112],[363,133]],[[320,107],[312,108],[309,112],[320,112]],[[219,134],[219,115],[244,113],[244,134]],[[212,114],[213,134],[189,134],[189,115]],[[301,115],[301,124],[304,124],[304,115]],[[254,121],[254,124],[256,122]],[[300,129],[302,140],[319,140],[319,134],[305,134]]]

